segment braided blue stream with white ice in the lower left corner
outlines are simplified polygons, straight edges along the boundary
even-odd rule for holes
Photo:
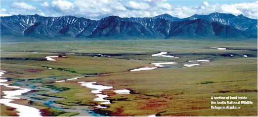
[[[2,75],[2,73],[3,72],[1,72],[1,75]],[[79,77],[79,78],[81,78],[81,77]],[[70,80],[72,80],[72,79],[77,79],[77,78],[71,78]],[[54,103],[54,101],[63,100],[63,98],[51,97],[51,96],[48,96],[48,94],[58,93],[61,91],[56,90],[56,89],[42,87],[41,86],[42,83],[33,83],[33,84],[29,83],[31,81],[33,82],[36,80],[37,79],[22,80],[22,81],[15,82],[14,84],[20,85],[20,87],[19,87],[20,89],[14,90],[14,91],[3,91],[5,95],[7,95],[7,94],[8,95],[3,96],[4,99],[0,99],[0,103],[4,104],[6,106],[16,108],[16,110],[19,112],[18,115],[25,116],[25,117],[30,117],[30,116],[32,116],[31,114],[35,114],[33,117],[39,117],[39,116],[41,116],[40,112],[39,112],[40,110],[38,110],[36,108],[24,106],[24,105],[9,103],[10,101],[13,101],[12,99],[26,99],[26,100],[31,100],[33,102],[41,102],[43,105],[57,109],[57,110],[62,110],[62,111],[71,112],[71,113],[79,113],[79,115],[76,115],[76,116],[80,116],[80,117],[86,117],[86,116],[87,117],[88,116],[104,117],[103,115],[94,113],[93,110],[89,110],[88,109],[89,106],[70,106],[69,108],[66,108],[66,105]],[[1,82],[2,81],[7,81],[7,80],[1,79]],[[6,86],[7,84],[0,83],[0,85]],[[18,88],[18,86],[9,86],[9,87]],[[21,87],[26,87],[26,88],[21,88]],[[31,89],[27,89],[27,88],[31,88]],[[38,90],[40,92],[38,92],[36,90]],[[41,92],[41,91],[44,91],[44,92]],[[19,92],[19,93],[17,93],[17,92]],[[10,97],[12,97],[12,99],[9,99]],[[31,110],[30,111],[31,113],[29,115],[27,113],[28,110]]]

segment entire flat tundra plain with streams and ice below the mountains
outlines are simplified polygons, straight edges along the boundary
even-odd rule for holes
[[[257,39],[1,42],[1,116],[258,116]],[[252,105],[211,109],[211,96]]]

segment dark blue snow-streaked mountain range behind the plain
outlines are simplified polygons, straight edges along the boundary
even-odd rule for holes
[[[100,20],[83,17],[44,17],[35,15],[13,15],[1,18],[1,37],[36,38],[257,38],[257,20],[226,13],[195,14],[188,18],[177,18],[169,14],[155,17],[108,16]],[[237,34],[235,34],[237,33]]]

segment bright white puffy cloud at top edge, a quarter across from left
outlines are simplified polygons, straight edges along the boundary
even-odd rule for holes
[[[52,7],[57,7],[60,10],[72,10],[74,8],[74,4],[66,0],[54,0],[52,1]]]

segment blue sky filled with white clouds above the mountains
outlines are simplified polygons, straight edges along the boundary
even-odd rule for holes
[[[98,20],[110,15],[153,17],[168,13],[185,18],[220,12],[257,19],[257,7],[257,0],[0,0],[0,16],[73,15]]]

